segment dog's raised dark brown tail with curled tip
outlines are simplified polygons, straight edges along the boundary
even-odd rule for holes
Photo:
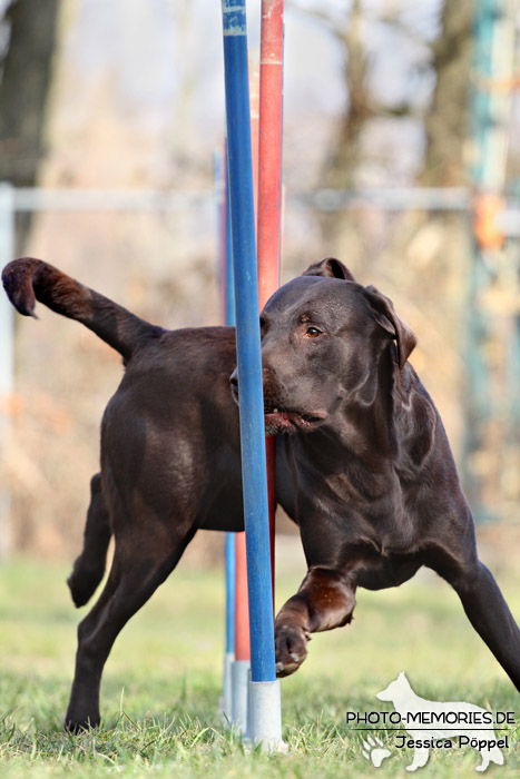
[[[2,282],[14,308],[36,316],[36,300],[81,322],[128,361],[137,346],[164,331],[76,282],[41,259],[23,257],[3,268]]]

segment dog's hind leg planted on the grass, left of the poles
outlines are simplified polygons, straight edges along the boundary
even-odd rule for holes
[[[116,536],[112,566],[99,600],[78,628],[76,672],[66,716],[66,728],[97,727],[99,688],[105,662],[128,620],[146,603],[179,561],[195,534],[167,532],[153,517],[131,526],[122,540]]]

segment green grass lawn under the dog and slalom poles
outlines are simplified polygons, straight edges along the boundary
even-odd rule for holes
[[[283,561],[278,566],[283,565]],[[86,609],[69,602],[62,565],[13,560],[0,568],[0,777],[401,777],[410,750],[380,734],[392,752],[380,769],[365,760],[362,733],[345,712],[391,710],[375,693],[405,670],[425,698],[470,700],[516,711],[519,696],[467,623],[454,593],[433,576],[399,590],[359,592],[349,628],[315,635],[301,671],[282,682],[286,755],[248,753],[222,727],[217,704],[223,647],[223,582],[218,572],[180,570],[131,620],[104,677],[104,723],[71,736],[62,719],[76,651],[76,624]],[[287,574],[277,601],[301,575]],[[519,578],[500,578],[520,614]],[[517,777],[519,729],[503,767]],[[421,773],[474,777],[471,749],[432,751]],[[375,773],[374,773],[375,772]],[[420,775],[421,775],[420,773]]]

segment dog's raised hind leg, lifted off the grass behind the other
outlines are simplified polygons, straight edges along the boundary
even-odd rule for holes
[[[101,474],[90,481],[90,505],[85,525],[84,549],[67,580],[70,594],[79,608],[90,600],[104,578],[107,550],[111,538],[110,516],[101,487]]]

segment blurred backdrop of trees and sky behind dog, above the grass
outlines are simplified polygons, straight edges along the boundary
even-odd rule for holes
[[[247,8],[255,50],[258,0]],[[0,181],[66,201],[18,210],[12,252],[166,327],[220,316],[219,13],[210,0],[0,2]],[[282,280],[337,256],[393,298],[475,513],[516,525],[520,241],[479,248],[472,203],[491,191],[518,208],[518,0],[292,0],[285,16]],[[171,200],[121,211],[114,191]],[[77,211],[81,194],[96,205]],[[444,205],[422,210],[424,197]],[[121,365],[78,324],[38,316],[14,318],[0,527],[14,551],[66,559]],[[199,551],[218,558],[219,542]]]

